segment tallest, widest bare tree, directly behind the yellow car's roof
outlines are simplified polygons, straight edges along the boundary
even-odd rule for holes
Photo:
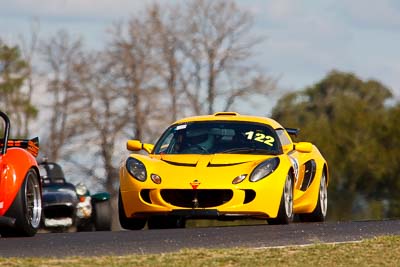
[[[183,21],[193,70],[192,86],[185,88],[195,113],[211,114],[217,106],[228,110],[237,99],[265,95],[275,87],[274,79],[250,63],[254,47],[263,40],[251,35],[250,13],[233,1],[193,0],[187,3]],[[204,104],[207,110],[200,108]]]

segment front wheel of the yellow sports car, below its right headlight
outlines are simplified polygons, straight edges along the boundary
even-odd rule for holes
[[[283,188],[278,216],[268,219],[268,224],[288,224],[293,221],[293,178],[288,174]]]

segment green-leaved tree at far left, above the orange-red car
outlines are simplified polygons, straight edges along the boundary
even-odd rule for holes
[[[17,137],[29,135],[28,121],[38,114],[25,86],[29,70],[20,48],[8,46],[0,40],[0,104],[13,122],[12,131]]]

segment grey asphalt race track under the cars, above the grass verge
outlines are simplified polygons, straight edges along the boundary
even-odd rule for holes
[[[400,220],[292,223],[166,230],[39,233],[0,238],[0,257],[165,253],[184,248],[274,247],[400,235]]]

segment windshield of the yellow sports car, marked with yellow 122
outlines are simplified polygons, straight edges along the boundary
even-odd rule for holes
[[[155,154],[281,153],[275,131],[251,122],[207,121],[172,125],[157,142]]]

